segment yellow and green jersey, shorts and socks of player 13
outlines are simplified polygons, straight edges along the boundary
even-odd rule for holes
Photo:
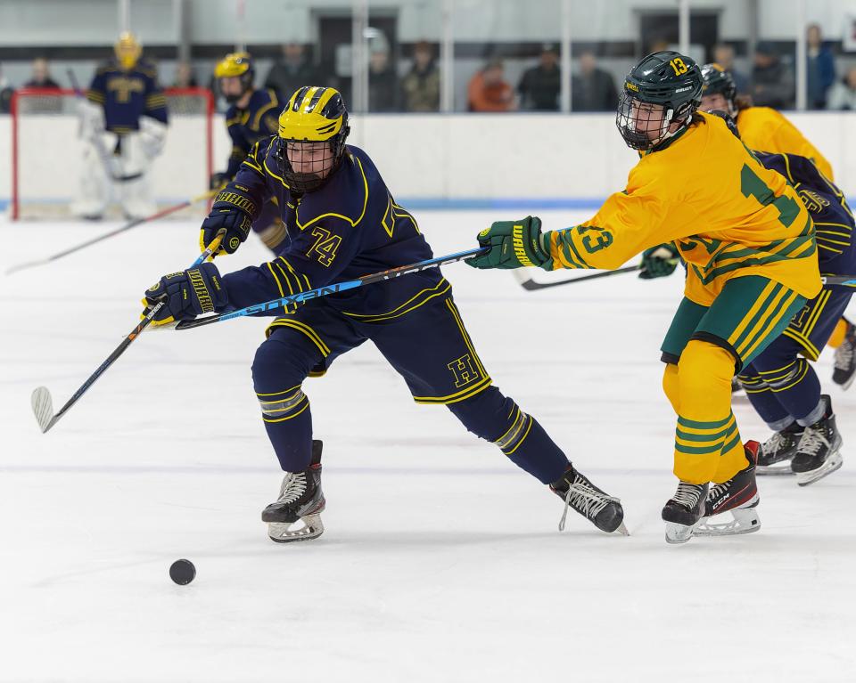
[[[815,228],[786,178],[718,117],[642,153],[624,191],[591,220],[546,232],[545,267],[613,269],[674,242],[684,298],[663,341],[663,389],[678,415],[675,475],[723,483],[746,467],[731,378],[820,291]]]

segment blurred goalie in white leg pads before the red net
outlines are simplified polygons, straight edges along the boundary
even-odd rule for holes
[[[98,220],[111,199],[128,218],[157,211],[149,184],[167,134],[167,99],[154,65],[133,34],[119,36],[115,58],[96,72],[80,104],[84,172],[71,213]]]

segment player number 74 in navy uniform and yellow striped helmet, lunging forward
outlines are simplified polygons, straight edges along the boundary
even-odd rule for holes
[[[264,201],[276,198],[290,235],[287,248],[269,263],[222,277],[211,263],[162,277],[145,293],[147,305],[165,303],[157,321],[189,320],[431,258],[413,215],[396,204],[366,152],[345,144],[348,133],[338,92],[307,86],[293,94],[276,137],[256,143],[202,224],[206,243],[226,229],[221,250],[232,253]],[[602,531],[625,532],[620,501],[573,468],[539,423],[493,386],[439,270],[282,313],[252,363],[261,416],[285,472],[279,499],[262,513],[273,541],[314,538],[324,530],[321,443],[313,441],[303,380],[325,373],[366,340],[404,378],[416,402],[446,405],[469,431],[548,484],[564,500],[565,513],[573,508]],[[295,528],[299,520],[303,526]]]

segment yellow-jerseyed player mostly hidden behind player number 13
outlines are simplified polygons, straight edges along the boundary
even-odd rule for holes
[[[755,107],[747,95],[737,94],[734,78],[719,64],[702,67],[703,111],[721,110],[737,122],[737,131],[750,150],[771,154],[796,154],[811,159],[820,173],[835,182],[827,158],[777,110]],[[847,388],[856,377],[856,326],[842,317],[828,346],[835,348],[835,384]]]

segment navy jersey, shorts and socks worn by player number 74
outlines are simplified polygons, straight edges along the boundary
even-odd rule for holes
[[[273,261],[223,276],[226,310],[432,258],[416,219],[392,198],[365,151],[345,146],[341,165],[315,191],[292,192],[281,174],[276,140],[262,140],[218,195],[215,212],[226,202],[251,217],[276,199],[290,236]],[[544,484],[569,467],[539,423],[492,385],[449,281],[432,269],[310,300],[270,324],[252,378],[285,471],[307,468],[311,457],[304,379],[325,373],[366,340],[399,372],[416,402],[448,406],[468,430],[496,443]]]

